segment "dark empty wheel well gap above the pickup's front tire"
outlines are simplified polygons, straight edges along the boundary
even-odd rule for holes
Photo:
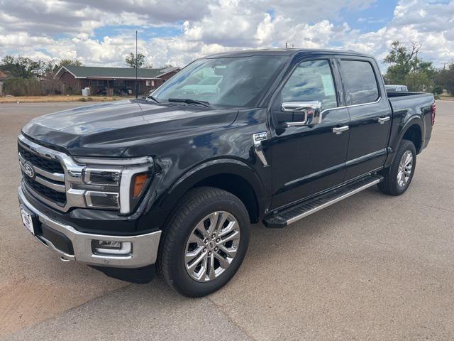
[[[251,222],[258,222],[258,202],[253,187],[247,180],[234,174],[218,174],[196,183],[194,187],[210,186],[236,195],[249,212]]]

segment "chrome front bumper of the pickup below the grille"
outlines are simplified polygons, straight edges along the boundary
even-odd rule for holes
[[[19,202],[28,210],[33,212],[40,224],[45,224],[47,227],[55,229],[70,239],[74,254],[67,254],[55,247],[52,242],[41,237],[35,236],[36,239],[45,247],[60,254],[63,260],[79,261],[84,264],[96,266],[114,266],[118,268],[140,268],[150,264],[155,264],[157,258],[157,249],[161,237],[161,231],[148,234],[140,234],[137,236],[109,236],[104,234],[89,234],[82,233],[71,227],[70,225],[62,224],[40,212],[27,200],[21,187],[18,188]],[[111,256],[104,254],[94,254],[92,250],[93,240],[106,240],[114,242],[131,242],[132,249],[130,254],[121,256]]]

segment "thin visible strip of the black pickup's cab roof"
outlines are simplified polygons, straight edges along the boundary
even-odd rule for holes
[[[221,57],[245,57],[249,55],[296,55],[297,53],[311,54],[333,54],[333,55],[355,55],[360,57],[372,57],[366,53],[359,53],[351,50],[323,50],[312,48],[267,48],[257,50],[237,50],[223,53],[208,55],[206,58],[221,58]]]

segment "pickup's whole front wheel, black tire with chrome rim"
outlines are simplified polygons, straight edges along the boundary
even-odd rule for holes
[[[223,219],[222,227],[216,229],[214,223],[221,224]],[[214,293],[243,263],[249,229],[248,210],[235,195],[211,187],[190,190],[177,204],[163,231],[158,259],[162,276],[184,296]],[[228,239],[233,240],[223,244]],[[197,256],[192,259],[192,254]],[[199,257],[202,261],[194,267]]]

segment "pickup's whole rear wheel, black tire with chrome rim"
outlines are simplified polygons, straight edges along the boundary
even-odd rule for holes
[[[411,155],[411,166],[404,166],[402,168],[401,162],[405,164],[405,161],[408,160],[407,157]],[[402,158],[405,156],[405,159]],[[416,148],[413,142],[408,140],[402,140],[399,148],[397,149],[396,156],[394,156],[394,161],[387,171],[384,173],[384,180],[378,184],[378,188],[384,194],[388,195],[401,195],[409,188],[411,179],[413,178],[414,171],[416,168]],[[399,177],[399,172],[410,171],[408,178],[406,178],[406,173],[401,173],[401,178]],[[403,178],[402,178],[403,177]]]

